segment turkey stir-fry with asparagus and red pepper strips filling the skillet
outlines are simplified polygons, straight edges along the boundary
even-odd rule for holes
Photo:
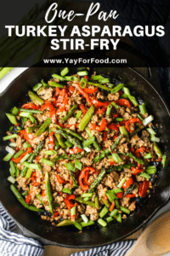
[[[149,195],[156,162],[166,164],[145,104],[126,84],[65,67],[6,113],[10,189],[56,227],[78,230],[127,218]]]

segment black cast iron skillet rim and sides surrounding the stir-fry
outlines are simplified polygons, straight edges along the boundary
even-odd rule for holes
[[[81,55],[82,57],[82,55]],[[87,55],[86,55],[87,57]],[[72,226],[64,228],[54,228],[47,221],[42,220],[35,213],[26,210],[16,200],[9,189],[8,163],[3,162],[3,156],[6,154],[2,137],[8,130],[9,124],[4,113],[17,104],[24,102],[26,93],[31,87],[37,84],[41,79],[48,81],[51,74],[59,73],[62,68],[59,67],[32,67],[22,73],[17,79],[8,85],[8,88],[0,97],[0,201],[6,208],[9,215],[19,224],[23,234],[41,241],[44,245],[57,245],[61,247],[98,247],[118,241],[133,232],[139,230],[156,211],[162,207],[169,198],[170,181],[170,158],[167,157],[167,166],[165,170],[160,170],[156,187],[151,191],[150,197],[141,209],[138,209],[132,216],[122,221],[109,223],[105,228],[98,224],[90,226],[79,234],[78,230]],[[77,73],[77,67],[71,67],[71,74]],[[124,83],[128,83],[131,91],[134,91],[146,103],[147,109],[153,113],[156,120],[156,130],[161,137],[161,148],[167,154],[170,154],[168,147],[170,140],[170,118],[167,104],[162,100],[160,94],[154,89],[146,79],[139,73],[128,67],[98,67],[92,68],[92,72],[106,74],[110,73],[112,77],[122,78]]]

